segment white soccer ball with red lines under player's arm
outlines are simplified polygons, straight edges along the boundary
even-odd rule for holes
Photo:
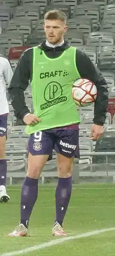
[[[96,85],[87,79],[78,79],[73,83],[72,97],[77,106],[86,107],[97,98]]]

